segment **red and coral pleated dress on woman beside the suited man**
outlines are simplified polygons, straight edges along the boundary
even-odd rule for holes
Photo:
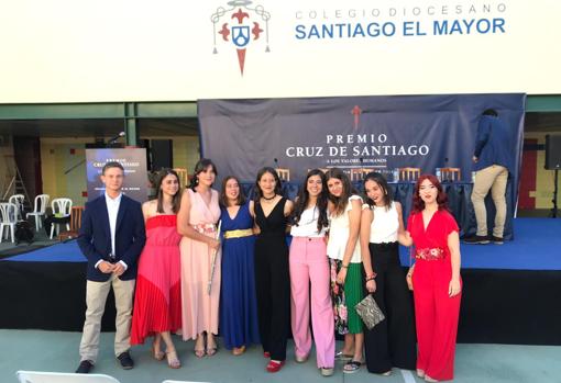
[[[155,333],[182,328],[180,259],[177,216],[162,214],[146,221],[146,245],[139,260],[132,315],[131,345]]]

